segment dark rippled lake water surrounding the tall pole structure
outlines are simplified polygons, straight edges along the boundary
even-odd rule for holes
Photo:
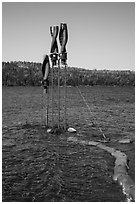
[[[128,133],[134,137],[133,87],[80,88],[93,114],[76,88],[69,87],[67,123],[84,140],[102,139],[97,129],[101,127],[111,140],[109,146],[128,155],[129,173],[134,178],[134,143],[117,142]],[[3,88],[3,201],[124,201],[121,188],[112,179],[111,155],[97,147],[68,143],[70,133],[47,134],[41,93],[40,87]],[[63,89],[61,97],[63,125]],[[92,120],[97,128],[90,125]]]

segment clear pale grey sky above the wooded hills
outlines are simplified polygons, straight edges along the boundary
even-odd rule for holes
[[[2,61],[42,63],[49,28],[60,23],[68,26],[69,66],[135,70],[134,2],[3,2]]]

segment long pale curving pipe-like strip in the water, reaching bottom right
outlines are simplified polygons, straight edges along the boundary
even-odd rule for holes
[[[127,197],[127,201],[135,201],[135,184],[128,175],[127,155],[125,153],[103,145],[100,142],[78,140],[76,137],[68,137],[68,141],[83,145],[97,146],[115,157],[116,160],[113,180],[117,181],[122,186],[122,190]]]

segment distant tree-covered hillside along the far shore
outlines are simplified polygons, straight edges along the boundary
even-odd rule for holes
[[[41,67],[42,64],[36,62],[2,62],[2,84],[4,86],[40,86],[42,81]],[[64,70],[61,69],[61,85],[63,81]],[[58,83],[57,68],[54,68],[54,83]],[[68,67],[67,85],[135,86],[135,72]]]

